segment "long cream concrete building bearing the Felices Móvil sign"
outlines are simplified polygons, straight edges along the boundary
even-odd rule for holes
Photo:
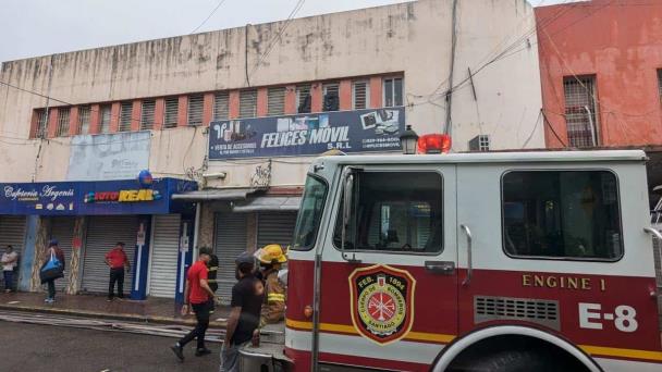
[[[228,296],[237,251],[290,241],[308,163],[328,149],[399,151],[405,124],[450,133],[453,151],[543,147],[535,29],[525,0],[420,0],[5,62],[0,182],[140,168],[197,182],[173,196],[195,218],[184,206],[150,219],[145,292],[174,296],[163,268],[181,273],[185,247],[210,246]],[[45,219],[27,224],[42,232]],[[33,265],[42,240],[26,251]]]

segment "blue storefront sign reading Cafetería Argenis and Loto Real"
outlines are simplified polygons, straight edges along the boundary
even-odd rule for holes
[[[194,182],[175,178],[157,178],[151,185],[137,179],[0,184],[0,214],[173,213],[186,206],[171,196],[196,188]]]

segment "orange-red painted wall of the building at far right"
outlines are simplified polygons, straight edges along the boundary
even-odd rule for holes
[[[536,17],[544,25],[538,30],[543,107],[563,144],[563,78],[573,75],[596,76],[602,146],[662,144],[657,75],[662,67],[662,2],[593,0],[537,8]],[[562,147],[553,132],[545,128],[547,145]]]

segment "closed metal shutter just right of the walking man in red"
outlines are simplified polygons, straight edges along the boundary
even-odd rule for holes
[[[219,257],[217,280],[221,302],[230,303],[234,276],[234,260],[246,250],[246,215],[241,213],[216,214],[216,255]]]

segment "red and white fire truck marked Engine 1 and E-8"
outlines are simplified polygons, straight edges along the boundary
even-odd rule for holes
[[[318,158],[282,344],[245,347],[243,370],[662,371],[645,163],[638,150]]]

